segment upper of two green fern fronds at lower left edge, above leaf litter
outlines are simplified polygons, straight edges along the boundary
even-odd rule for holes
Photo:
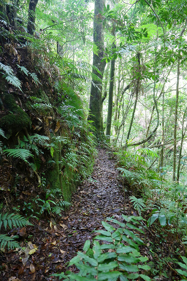
[[[19,214],[0,214],[0,230],[2,227],[2,224],[4,225],[4,228],[7,229],[7,225],[12,229],[12,225],[15,227],[23,227],[27,225],[32,225],[26,218],[22,217]]]

